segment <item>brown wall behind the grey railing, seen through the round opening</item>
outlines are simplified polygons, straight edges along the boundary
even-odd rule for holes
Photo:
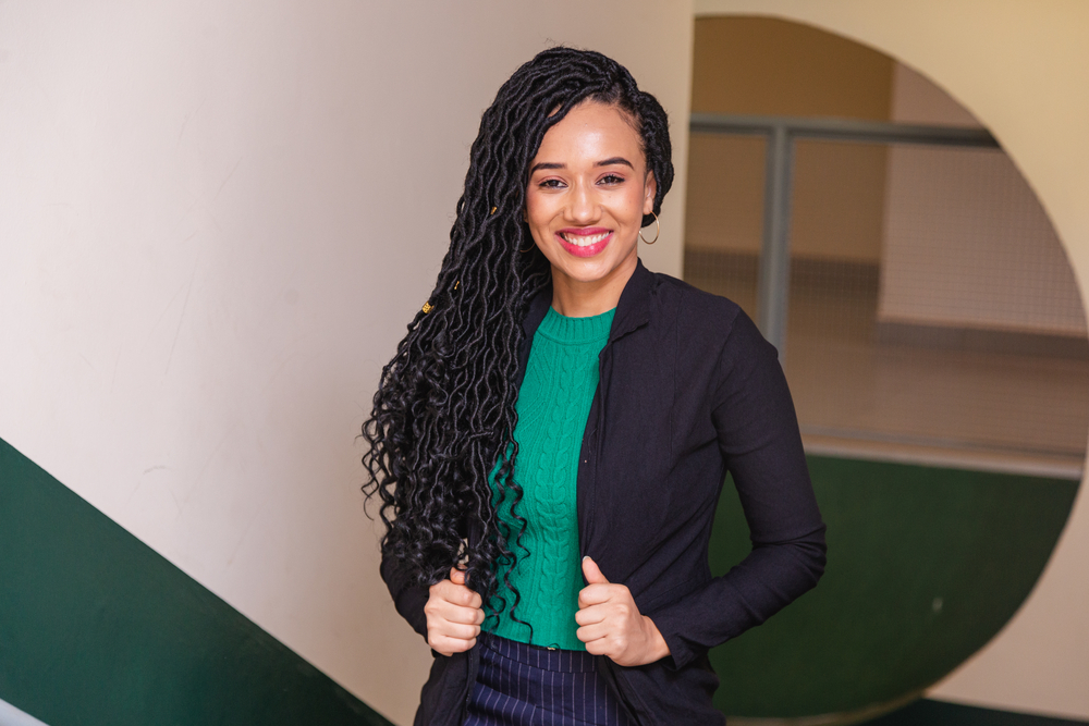
[[[893,62],[858,44],[766,17],[699,19],[695,38],[694,111],[889,119]],[[759,143],[705,138],[696,137],[692,147],[687,244],[759,251],[760,229],[751,229],[762,220],[764,162],[757,152]],[[876,262],[884,182],[882,148],[800,144],[792,253]],[[754,199],[754,193],[760,196]],[[754,205],[756,216],[749,211]],[[736,229],[727,230],[730,225]]]

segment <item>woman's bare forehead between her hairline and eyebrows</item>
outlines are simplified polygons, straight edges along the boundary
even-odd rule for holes
[[[636,164],[644,161],[643,139],[631,116],[616,106],[587,100],[548,130],[534,162],[592,162],[616,156]]]

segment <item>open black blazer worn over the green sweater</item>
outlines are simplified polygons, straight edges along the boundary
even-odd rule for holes
[[[519,381],[550,290],[524,322]],[[726,471],[752,551],[721,577],[707,561]],[[775,348],[734,303],[639,262],[600,355],[578,466],[579,555],[628,587],[670,655],[636,667],[605,656],[601,672],[644,726],[722,724],[708,649],[759,625],[817,585],[824,524]],[[391,557],[382,578],[397,612],[427,638],[428,589]],[[417,725],[460,726],[477,649],[436,654]]]

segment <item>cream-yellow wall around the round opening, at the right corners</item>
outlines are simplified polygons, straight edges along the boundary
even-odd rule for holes
[[[696,0],[697,14],[769,14],[872,46],[921,72],[998,137],[1037,193],[1086,303],[1089,3],[1080,0]],[[931,696],[1089,718],[1089,493],[1010,625]]]

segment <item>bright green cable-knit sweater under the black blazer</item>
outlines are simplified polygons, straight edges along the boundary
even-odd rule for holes
[[[589,318],[566,318],[549,308],[534,335],[526,377],[518,393],[518,423],[514,439],[518,459],[514,480],[524,494],[516,508],[527,520],[521,546],[511,543],[517,565],[500,567],[499,594],[506,607],[495,633],[511,640],[566,650],[586,650],[575,630],[578,591],[583,589],[578,556],[578,514],[575,508],[575,479],[583,432],[590,402],[598,387],[598,354],[609,340],[615,309]],[[503,503],[500,517],[518,526]],[[510,617],[513,594],[502,585],[510,573],[511,583],[522,595]],[[501,603],[491,604],[498,612]]]

